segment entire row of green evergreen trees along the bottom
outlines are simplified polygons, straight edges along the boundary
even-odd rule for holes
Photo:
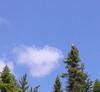
[[[100,81],[92,81],[89,78],[79,58],[79,51],[74,45],[64,63],[65,72],[56,77],[52,92],[100,92]],[[62,86],[63,79],[66,84]],[[26,74],[17,81],[7,65],[0,75],[0,92],[38,92],[39,87],[30,87]]]

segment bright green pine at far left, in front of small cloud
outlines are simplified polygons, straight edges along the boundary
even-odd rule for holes
[[[17,82],[9,67],[6,65],[0,76],[1,92],[18,92]]]

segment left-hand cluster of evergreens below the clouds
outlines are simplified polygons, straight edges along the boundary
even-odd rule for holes
[[[38,88],[29,87],[26,74],[17,81],[7,65],[0,74],[0,92],[37,92]]]

